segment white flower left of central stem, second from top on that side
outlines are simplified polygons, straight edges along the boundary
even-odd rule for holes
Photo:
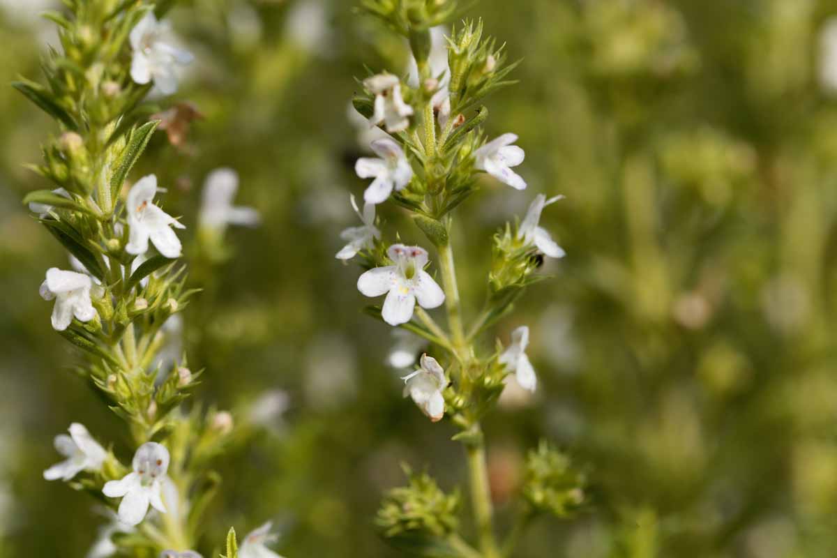
[[[403,190],[413,178],[413,167],[401,146],[390,138],[381,138],[369,144],[380,158],[361,157],[355,163],[355,172],[361,178],[372,178],[372,184],[363,192],[367,203],[385,202],[393,192]]]

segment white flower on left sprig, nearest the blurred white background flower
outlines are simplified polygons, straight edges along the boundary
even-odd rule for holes
[[[157,192],[163,190],[157,188],[157,177],[153,174],[136,181],[128,192],[126,212],[131,231],[125,249],[127,253],[134,255],[146,253],[150,238],[154,248],[162,255],[178,258],[182,245],[172,227],[186,227],[152,203]]]

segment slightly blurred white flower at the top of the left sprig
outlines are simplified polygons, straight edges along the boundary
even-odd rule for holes
[[[192,62],[193,56],[172,44],[167,22],[148,13],[131,29],[131,78],[138,84],[151,80],[163,95],[177,91],[177,67]]]

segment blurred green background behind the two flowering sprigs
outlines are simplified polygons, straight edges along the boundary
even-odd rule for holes
[[[39,78],[39,51],[55,44],[41,4],[0,0],[6,82]],[[197,63],[162,103],[193,102],[203,120],[181,146],[157,133],[137,172],[170,188],[205,289],[184,314],[189,364],[206,369],[196,397],[239,420],[265,392],[289,402],[219,464],[210,549],[229,525],[273,519],[289,558],[395,555],[372,517],[403,482],[399,463],[446,489],[465,478],[454,431],[402,399],[385,363],[391,332],[360,311],[360,272],[334,259],[355,224],[348,193],[364,187],[354,78],[407,62],[402,41],[352,4],[172,11]],[[529,190],[485,180],[460,211],[467,313],[485,294],[490,234],[537,192],[567,196],[542,222],[567,258],[547,262],[554,277],[492,332],[531,327],[537,396],[507,394],[485,431],[501,528],[540,438],[586,468],[591,505],[540,520],[518,555],[833,556],[837,50],[829,57],[824,29],[837,3],[480,0],[468,15],[523,59],[520,84],[488,101],[487,127],[521,136]],[[83,556],[103,520],[85,495],[42,479],[52,438],[80,421],[117,453],[128,441],[72,373],[77,356],[38,296],[66,255],[19,202],[48,186],[22,163],[55,131],[11,87],[0,113],[0,555]],[[229,260],[209,264],[193,235],[218,166],[239,171],[238,201],[264,223],[230,230]],[[424,242],[397,209],[383,213]]]

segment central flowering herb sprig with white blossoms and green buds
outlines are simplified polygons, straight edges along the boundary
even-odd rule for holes
[[[389,242],[371,209],[364,212],[364,223],[374,234],[364,234],[363,242],[352,244],[351,253],[344,250],[341,255],[350,259],[357,254],[366,269],[357,281],[362,294],[386,295],[383,305],[367,309],[371,315],[429,341],[420,366],[403,376],[404,395],[430,421],[447,418],[459,429],[453,439],[463,443],[467,454],[476,542],[469,544],[459,533],[458,496],[445,495],[426,474],[411,475],[407,487],[388,495],[377,525],[394,545],[419,555],[497,558],[511,554],[522,527],[500,544],[480,421],[495,407],[506,381],[518,381],[534,392],[537,376],[526,356],[526,326],[515,330],[509,346],[498,342],[493,353],[480,351],[478,340],[511,310],[526,286],[540,278],[537,268],[542,259],[562,258],[564,252],[538,223],[543,209],[560,197],[547,200],[538,194],[522,221],[507,223],[493,238],[485,306],[466,323],[450,243],[454,210],[479,189],[485,175],[518,191],[526,190],[527,183],[525,173],[517,168],[525,159],[516,145],[518,137],[506,133],[489,138],[483,130],[488,110],[480,102],[513,83],[507,76],[516,64],[507,62],[506,50],[484,36],[481,21],[465,21],[446,39],[448,68],[436,75],[429,64],[430,28],[448,24],[460,8],[454,0],[361,4],[362,13],[383,20],[408,39],[419,74],[418,80],[404,81],[383,69],[358,82],[362,90],[353,100],[355,108],[390,135],[372,142],[370,150],[377,158],[357,161],[357,176],[372,179],[364,201],[374,205],[391,200],[406,209],[434,246],[436,257],[420,246]],[[444,326],[429,312],[442,305]],[[539,452],[538,474],[532,475],[531,486],[521,490],[519,525],[540,512],[567,515],[584,500],[583,477],[567,473],[572,471],[567,458],[546,445]],[[558,465],[562,471],[551,473],[550,468]],[[557,476],[570,481],[560,491],[533,484]],[[537,505],[532,494],[537,494]],[[559,498],[561,502],[552,501]],[[573,506],[565,504],[567,498]]]

